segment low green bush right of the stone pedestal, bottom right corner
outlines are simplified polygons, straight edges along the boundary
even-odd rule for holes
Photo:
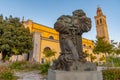
[[[120,80],[120,69],[103,70],[103,80]]]

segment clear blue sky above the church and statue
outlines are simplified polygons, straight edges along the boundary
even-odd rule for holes
[[[92,20],[92,29],[83,37],[96,40],[94,16],[97,7],[102,8],[107,17],[110,40],[120,42],[120,0],[0,0],[0,14],[12,15],[25,20],[52,27],[61,15],[72,15],[77,9],[83,9]]]

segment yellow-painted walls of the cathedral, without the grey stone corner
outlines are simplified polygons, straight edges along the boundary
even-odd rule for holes
[[[43,50],[45,47],[50,47],[51,49],[55,50],[57,52],[56,57],[58,57],[60,53],[60,46],[59,46],[59,33],[56,32],[53,28],[37,24],[32,22],[31,20],[28,20],[23,23],[25,27],[28,27],[30,32],[40,32],[41,33],[41,44],[40,44],[40,62],[41,58],[44,58]],[[53,36],[54,39],[49,39],[50,36]],[[89,53],[93,53],[94,48],[94,42],[88,39],[83,38],[82,44],[85,45],[83,47],[83,50],[89,51]],[[89,59],[87,59],[89,60]]]

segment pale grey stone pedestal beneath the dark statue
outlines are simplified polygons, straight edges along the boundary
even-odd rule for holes
[[[103,80],[103,78],[100,71],[49,70],[48,80]]]

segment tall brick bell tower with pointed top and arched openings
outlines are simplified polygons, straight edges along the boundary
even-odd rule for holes
[[[106,16],[102,13],[100,7],[97,8],[95,18],[97,37],[104,37],[104,40],[109,42],[108,28],[106,23]]]

